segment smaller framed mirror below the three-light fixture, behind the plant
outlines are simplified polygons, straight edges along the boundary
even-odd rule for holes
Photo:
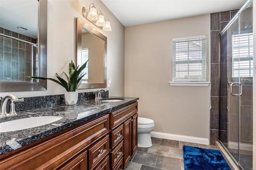
[[[106,88],[107,38],[76,18],[76,65],[89,59],[78,89]]]

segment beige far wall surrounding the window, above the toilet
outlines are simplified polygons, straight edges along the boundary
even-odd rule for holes
[[[154,132],[209,138],[209,87],[174,87],[172,39],[206,35],[210,16],[125,28],[125,96],[139,97],[138,114],[153,119]]]

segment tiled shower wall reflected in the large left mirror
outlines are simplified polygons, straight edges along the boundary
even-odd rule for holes
[[[0,28],[0,33],[36,43],[36,39]],[[28,43],[18,42],[11,38],[0,36],[0,81],[30,81],[31,53],[33,48],[33,64],[36,64],[36,47]],[[34,75],[36,69],[33,69]]]

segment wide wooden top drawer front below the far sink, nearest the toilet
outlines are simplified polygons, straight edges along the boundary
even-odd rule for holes
[[[110,130],[122,124],[126,119],[138,112],[138,102],[110,113]]]

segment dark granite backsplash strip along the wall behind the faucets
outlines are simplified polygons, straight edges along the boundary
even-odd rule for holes
[[[20,97],[22,98],[22,97]],[[108,91],[102,92],[102,99],[108,98]],[[78,101],[95,99],[94,92],[78,93]],[[1,103],[2,100],[0,100]],[[53,107],[65,104],[64,95],[49,95],[37,97],[24,97],[23,102],[15,102],[15,111],[27,111],[31,109],[39,109],[44,107]],[[6,111],[10,111],[10,100],[8,100]]]

